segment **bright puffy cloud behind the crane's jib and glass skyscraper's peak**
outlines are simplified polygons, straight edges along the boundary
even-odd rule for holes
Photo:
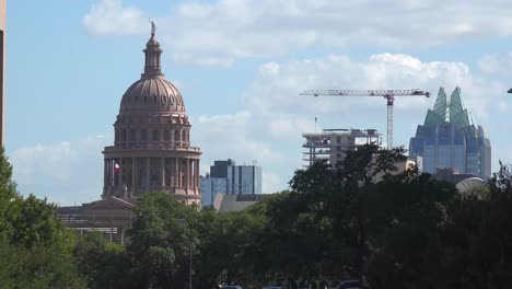
[[[381,97],[317,97],[299,95],[309,89],[421,89],[435,96],[439,86],[453,90],[463,88],[467,104],[479,116],[487,115],[489,93],[499,85],[470,71],[463,62],[431,61],[403,54],[376,54],[363,61],[348,56],[330,55],[326,58],[301,59],[287,63],[269,62],[259,68],[257,79],[246,92],[244,102],[259,112],[293,111],[303,114],[344,114],[357,116],[352,107],[385,105]],[[395,109],[419,112],[431,100],[397,97]],[[274,125],[283,128],[284,124]],[[288,127],[290,125],[288,124]]]

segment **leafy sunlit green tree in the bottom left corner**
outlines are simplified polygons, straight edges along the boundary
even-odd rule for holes
[[[70,251],[74,234],[55,218],[55,205],[23,198],[0,151],[0,280],[5,288],[85,288]]]

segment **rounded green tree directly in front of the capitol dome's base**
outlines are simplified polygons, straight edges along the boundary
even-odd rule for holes
[[[175,288],[187,282],[188,252],[197,247],[198,211],[163,193],[146,194],[135,208],[131,244],[140,288]],[[190,227],[191,226],[191,227]]]

